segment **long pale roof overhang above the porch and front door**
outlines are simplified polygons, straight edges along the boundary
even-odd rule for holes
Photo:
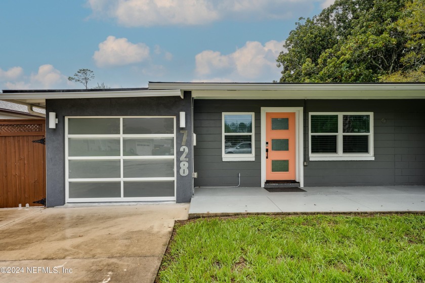
[[[425,99],[425,83],[149,82],[149,89],[176,88],[195,99]]]

